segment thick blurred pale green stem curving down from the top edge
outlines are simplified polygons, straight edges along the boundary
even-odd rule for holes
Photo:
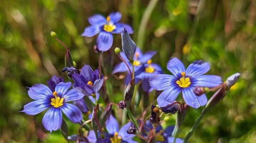
[[[142,16],[142,20],[139,25],[138,38],[137,38],[138,47],[140,47],[141,49],[143,49],[143,45],[144,45],[144,36],[145,36],[146,25],[149,21],[149,17],[151,16],[151,13],[154,10],[157,2],[158,2],[158,0],[150,0],[148,6],[146,7],[146,10]]]

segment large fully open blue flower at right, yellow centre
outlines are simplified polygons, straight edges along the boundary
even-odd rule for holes
[[[207,103],[205,94],[197,96],[193,89],[196,86],[215,87],[222,83],[222,78],[215,75],[203,75],[210,65],[204,61],[194,61],[187,69],[176,57],[167,63],[167,69],[173,75],[156,74],[149,79],[149,84],[155,90],[164,90],[157,98],[158,105],[165,107],[175,101],[180,92],[185,102],[193,107],[199,108]]]

